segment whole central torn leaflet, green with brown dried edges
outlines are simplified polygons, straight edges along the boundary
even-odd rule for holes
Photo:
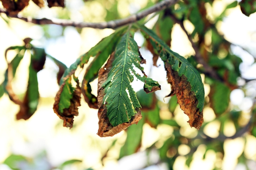
[[[146,77],[140,66],[144,59],[140,56],[138,45],[130,31],[121,38],[107,64],[99,71],[98,106],[99,131],[101,137],[113,136],[141,119],[140,103],[131,87],[133,74],[145,82],[147,93],[160,90],[158,82]],[[144,74],[138,75],[133,67],[139,68]]]

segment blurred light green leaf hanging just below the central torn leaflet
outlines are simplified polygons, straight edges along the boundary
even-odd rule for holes
[[[137,125],[132,125],[127,128],[127,138],[120,150],[119,158],[127,155],[132,155],[137,152],[141,145],[142,128],[144,125],[144,119],[138,122]]]

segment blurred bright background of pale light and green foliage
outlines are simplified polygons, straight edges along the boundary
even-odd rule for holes
[[[65,8],[39,8],[30,2],[19,14],[104,22],[127,17],[156,2],[66,0]],[[108,138],[96,135],[97,110],[84,101],[71,130],[62,127],[52,105],[58,91],[57,73],[114,30],[34,25],[1,14],[0,83],[4,83],[7,68],[4,54],[10,46],[22,47],[23,40],[30,37],[31,44],[44,49],[47,57],[44,68],[38,69],[34,76],[40,94],[38,109],[27,121],[16,121],[19,106],[11,102],[0,86],[0,169],[256,169],[255,3],[254,0],[183,0],[146,17],[146,26],[201,73],[206,93],[204,124],[199,131],[190,128],[177,98],[163,100],[170,93],[163,62],[159,59],[158,67],[152,66],[152,54],[145,47],[141,33],[136,32],[135,40],[147,60],[142,65],[145,73],[157,80],[162,90],[146,94],[141,90],[143,85],[135,81],[133,88],[142,106],[143,119]],[[19,51],[22,49],[8,51],[8,63]],[[213,68],[218,79],[207,73],[195,55]],[[11,85],[14,93],[24,99],[30,82],[30,54],[25,53],[18,62],[19,66],[13,64],[16,73]],[[85,68],[77,73],[80,82]],[[91,87],[96,95],[97,80],[91,82]]]

